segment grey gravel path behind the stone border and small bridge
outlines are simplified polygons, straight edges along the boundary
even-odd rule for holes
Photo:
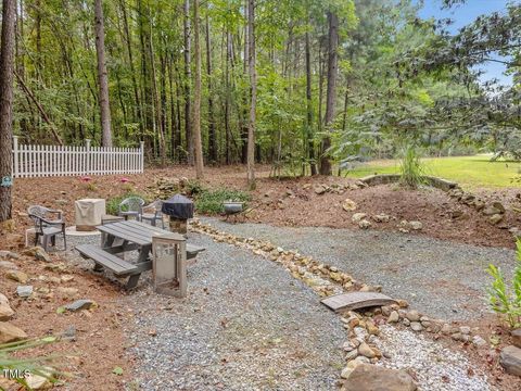
[[[516,253],[508,249],[397,232],[229,224],[216,218],[202,222],[313,255],[363,282],[381,285],[384,293],[443,319],[475,318],[488,312],[485,288],[491,278],[484,269],[493,262],[510,278],[516,262]]]

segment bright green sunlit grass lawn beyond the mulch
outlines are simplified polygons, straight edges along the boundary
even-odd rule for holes
[[[519,187],[512,178],[521,176],[521,163],[491,162],[490,155],[429,157],[422,161],[427,174],[457,181],[467,188],[507,188]],[[363,164],[351,171],[347,176],[360,178],[372,174],[397,174],[399,162],[396,160],[379,160]]]

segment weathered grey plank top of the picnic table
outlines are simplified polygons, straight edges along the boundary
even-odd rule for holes
[[[111,223],[97,227],[101,232],[127,240],[138,245],[151,245],[152,237],[157,234],[170,234],[169,231],[136,220]],[[187,244],[187,252],[196,254],[204,248]]]

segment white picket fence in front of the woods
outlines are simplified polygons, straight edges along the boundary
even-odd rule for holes
[[[13,177],[137,174],[143,172],[143,142],[140,148],[18,144],[13,137]]]

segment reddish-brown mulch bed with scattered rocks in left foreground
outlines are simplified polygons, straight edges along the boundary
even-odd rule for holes
[[[22,243],[21,243],[22,245]],[[2,250],[7,247],[2,243]],[[21,251],[17,245],[11,250]],[[11,324],[23,329],[28,338],[61,336],[67,328],[74,327],[75,340],[61,340],[45,346],[24,351],[23,355],[58,355],[51,366],[61,373],[67,387],[74,390],[120,390],[128,381],[132,363],[125,355],[126,340],[122,332],[131,313],[118,304],[122,291],[103,277],[98,277],[76,267],[66,266],[66,260],[51,255],[52,263],[36,261],[31,256],[21,255],[18,260],[9,260],[26,273],[36,297],[21,299],[16,287],[23,283],[5,277],[7,269],[0,268],[0,291],[4,293],[15,315]],[[64,264],[66,269],[51,270],[46,266]],[[43,281],[40,276],[60,278],[73,276],[67,282],[56,283]],[[76,288],[75,297],[60,292],[60,287]],[[38,292],[39,288],[49,289],[50,294]],[[97,308],[79,312],[58,313],[60,306],[72,303],[76,299],[90,299],[98,304]],[[123,375],[113,374],[115,367],[124,369]]]

